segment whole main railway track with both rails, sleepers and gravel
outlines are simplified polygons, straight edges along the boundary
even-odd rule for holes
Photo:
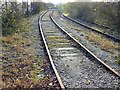
[[[113,84],[120,77],[118,72],[60,27],[53,19],[52,11],[42,14],[38,22],[46,52],[62,89],[102,87],[105,86],[102,78],[112,80]],[[95,83],[97,79],[99,83]]]

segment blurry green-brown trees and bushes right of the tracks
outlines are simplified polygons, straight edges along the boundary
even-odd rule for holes
[[[81,18],[114,28],[117,32],[120,29],[120,3],[118,2],[74,2],[61,5],[59,8],[73,18]]]

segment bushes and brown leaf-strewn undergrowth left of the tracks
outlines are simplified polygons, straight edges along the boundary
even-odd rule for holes
[[[5,2],[2,5],[2,81],[5,89],[49,88],[52,79],[45,74],[48,63],[38,58],[31,47],[30,16],[46,9],[44,3]],[[37,5],[36,5],[37,4]],[[33,9],[34,7],[34,9]],[[36,11],[34,11],[36,10]]]

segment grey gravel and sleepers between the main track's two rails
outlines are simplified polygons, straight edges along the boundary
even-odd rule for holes
[[[45,38],[51,35],[51,33],[46,33],[49,32],[49,30],[54,31],[52,36],[61,35],[61,37],[65,37],[66,35],[63,35],[63,33],[52,23],[49,18],[49,13],[50,12],[43,17],[42,22]],[[65,39],[71,41],[68,37],[65,37]],[[51,45],[53,41],[56,41],[56,38],[51,41],[47,40],[48,46]],[[54,43],[57,43],[57,41]],[[74,44],[74,46],[71,45],[68,47],[67,45],[66,47],[52,46],[49,49],[53,62],[65,87],[119,88],[118,77],[108,72],[103,66],[86,57],[77,45]]]

